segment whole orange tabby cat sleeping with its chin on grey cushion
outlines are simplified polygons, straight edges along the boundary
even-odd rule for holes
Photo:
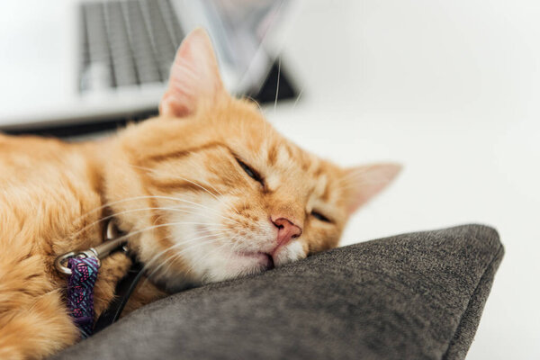
[[[101,243],[104,218],[128,234],[148,276],[129,312],[336,247],[400,166],[341,168],[298,148],[256,104],[226,93],[198,29],[178,49],[157,118],[86,143],[0,135],[0,169],[0,358],[34,359],[79,336],[53,263]],[[130,262],[103,259],[96,317]]]

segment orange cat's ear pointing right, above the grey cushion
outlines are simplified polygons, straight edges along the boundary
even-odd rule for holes
[[[365,202],[369,202],[401,172],[402,166],[381,163],[348,168],[342,178],[347,193],[347,212],[355,212]]]

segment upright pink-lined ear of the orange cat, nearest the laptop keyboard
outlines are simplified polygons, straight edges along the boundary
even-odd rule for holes
[[[184,117],[195,112],[201,100],[213,101],[224,92],[211,40],[206,31],[197,28],[176,52],[159,113]]]

